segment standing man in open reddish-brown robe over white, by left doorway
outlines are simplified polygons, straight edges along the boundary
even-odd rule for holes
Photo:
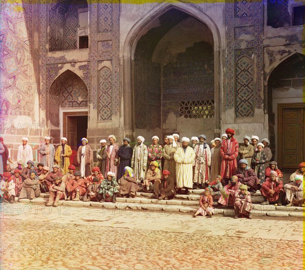
[[[88,145],[88,139],[81,139],[82,145],[77,149],[77,164],[82,177],[91,175],[90,165],[93,162],[93,151],[90,145]]]

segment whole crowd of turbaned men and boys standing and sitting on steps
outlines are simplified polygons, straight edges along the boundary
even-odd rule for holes
[[[49,193],[46,206],[58,206],[59,200],[116,202],[116,197],[137,196],[137,191],[153,193],[159,200],[170,200],[176,194],[189,195],[189,189],[203,189],[200,207],[193,217],[214,214],[214,201],[219,207],[234,206],[235,216],[252,218],[251,192],[260,190],[264,202],[304,207],[303,177],[305,162],[291,174],[290,183],[283,184],[283,173],[277,162],[271,161],[269,140],[259,142],[258,136],[243,137],[243,144],[234,138],[235,131],[227,129],[222,138],[206,142],[206,136],[179,135],[151,138],[146,146],[142,136],[137,137],[134,148],[129,138],[123,145],[116,143],[114,135],[100,141],[96,153],[97,166],[93,167],[93,150],[86,138],[77,151],[76,167],[70,164],[72,149],[67,138],[61,138],[56,148],[45,137],[39,148],[41,163],[35,166],[33,150],[28,138],[22,138],[18,147],[17,168],[10,170],[8,148],[0,138],[0,200],[14,203],[18,199],[33,199],[40,193]],[[191,144],[190,144],[191,142]],[[93,167],[93,168],[92,168]]]

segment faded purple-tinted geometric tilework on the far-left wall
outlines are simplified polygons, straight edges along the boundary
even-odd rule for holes
[[[0,115],[33,116],[32,55],[29,9],[15,1],[1,1]]]

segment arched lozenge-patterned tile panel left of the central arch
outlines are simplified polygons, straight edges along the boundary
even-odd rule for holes
[[[112,119],[112,72],[103,67],[99,71],[99,110],[100,121],[111,121]]]

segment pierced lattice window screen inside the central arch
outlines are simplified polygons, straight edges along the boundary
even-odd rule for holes
[[[180,101],[179,115],[185,118],[212,118],[214,117],[214,100]]]

